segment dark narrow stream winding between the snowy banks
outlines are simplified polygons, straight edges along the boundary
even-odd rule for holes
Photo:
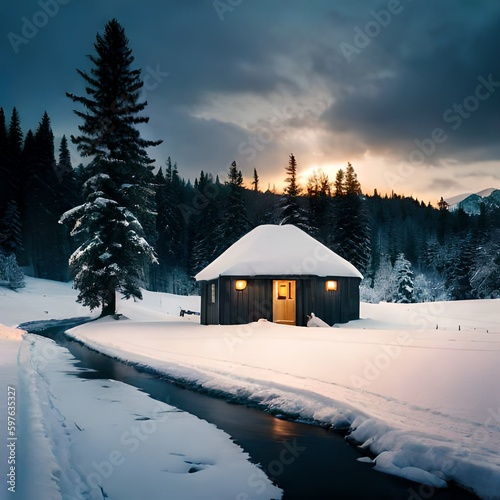
[[[80,321],[81,322],[81,321]],[[363,455],[347,444],[341,432],[276,418],[260,409],[234,404],[148,373],[88,349],[64,335],[75,326],[68,320],[20,325],[54,339],[88,368],[79,376],[114,379],[139,388],[152,398],[185,410],[227,432],[285,491],[284,499],[438,499],[477,498],[459,488],[434,490],[373,470]],[[255,479],[258,491],[258,478]],[[210,498],[207,492],[207,498]]]

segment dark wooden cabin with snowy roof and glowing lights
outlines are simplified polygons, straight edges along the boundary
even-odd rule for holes
[[[305,326],[359,319],[363,276],[345,259],[292,225],[258,226],[196,275],[201,323],[237,325],[265,318]]]

